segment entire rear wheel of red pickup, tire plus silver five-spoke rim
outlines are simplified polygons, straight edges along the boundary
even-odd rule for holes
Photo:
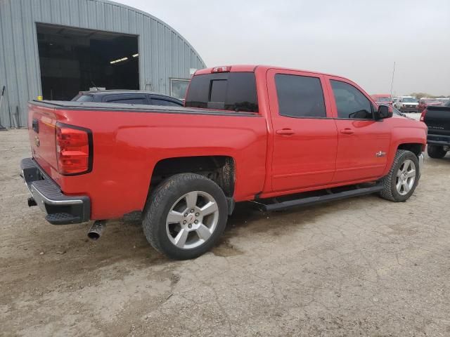
[[[226,197],[214,181],[176,174],[150,194],[143,214],[148,242],[169,258],[186,260],[209,251],[224,231]]]

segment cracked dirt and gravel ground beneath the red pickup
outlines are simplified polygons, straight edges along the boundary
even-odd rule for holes
[[[0,132],[0,336],[450,336],[450,155],[416,193],[262,213],[239,205],[211,253],[167,260],[138,222],[54,226]]]

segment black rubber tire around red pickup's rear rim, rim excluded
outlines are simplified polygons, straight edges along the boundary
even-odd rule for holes
[[[219,216],[217,227],[211,236],[200,246],[193,249],[181,249],[170,241],[166,230],[166,219],[176,201],[184,194],[201,191],[210,194],[217,203]],[[217,243],[226,226],[228,206],[226,197],[214,181],[195,173],[181,173],[164,180],[150,193],[143,212],[143,232],[154,249],[176,260],[197,258],[209,251]]]

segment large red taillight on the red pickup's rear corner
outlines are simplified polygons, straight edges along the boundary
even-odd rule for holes
[[[58,172],[65,176],[91,171],[89,130],[56,124]]]

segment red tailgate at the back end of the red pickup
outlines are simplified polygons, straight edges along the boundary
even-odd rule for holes
[[[56,161],[55,125],[56,110],[30,103],[28,105],[28,133],[32,156],[46,173],[58,171]]]

